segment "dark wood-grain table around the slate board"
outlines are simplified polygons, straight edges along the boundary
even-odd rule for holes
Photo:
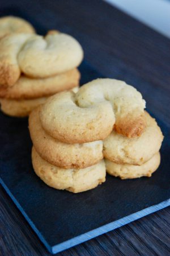
[[[170,126],[170,40],[103,1],[1,0],[0,15],[18,7],[36,22],[45,19],[46,29],[52,20],[50,28],[73,27],[86,60],[104,76],[137,87],[147,108]],[[0,255],[49,255],[2,188],[0,211]],[[169,244],[170,208],[165,208],[58,255],[170,255]]]

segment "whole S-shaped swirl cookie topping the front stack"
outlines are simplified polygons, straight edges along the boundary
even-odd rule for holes
[[[65,143],[100,141],[115,127],[137,137],[145,129],[145,101],[133,86],[114,79],[97,79],[78,93],[63,92],[42,106],[40,121],[52,137]]]

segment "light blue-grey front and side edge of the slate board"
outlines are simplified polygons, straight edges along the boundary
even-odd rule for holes
[[[52,254],[59,253],[60,251],[69,249],[70,247],[73,247],[75,245],[78,245],[79,243],[86,242],[88,240],[91,240],[94,237],[100,236],[101,234],[107,233],[111,230],[120,228],[121,226],[124,226],[132,221],[138,220],[139,218],[142,218],[144,216],[147,216],[148,214],[157,212],[158,210],[161,210],[165,207],[170,206],[170,199],[163,201],[162,203],[152,205],[151,207],[145,208],[143,210],[140,210],[139,212],[132,213],[129,216],[126,216],[124,218],[120,218],[120,220],[116,220],[113,222],[110,222],[109,224],[106,224],[104,226],[101,226],[99,228],[93,229],[90,232],[84,233],[78,237],[71,238],[70,240],[67,240],[65,242],[59,243],[58,245],[50,246],[45,238],[42,236],[42,234],[39,232],[39,230],[36,228],[36,226],[33,224],[33,222],[30,220],[28,215],[25,213],[22,206],[18,203],[18,201],[15,199],[15,197],[10,192],[10,189],[7,188],[6,184],[2,181],[0,178],[0,184],[5,189],[7,194],[10,196],[16,207],[20,210],[20,212],[23,214],[31,228],[34,230],[34,232],[37,234],[37,236],[40,238],[41,242],[44,243],[46,249]]]

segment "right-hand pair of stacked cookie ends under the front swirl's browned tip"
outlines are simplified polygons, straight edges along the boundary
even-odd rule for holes
[[[112,131],[103,142],[107,172],[121,179],[151,177],[160,164],[163,134],[155,119],[145,112],[146,127],[140,137],[128,138]]]

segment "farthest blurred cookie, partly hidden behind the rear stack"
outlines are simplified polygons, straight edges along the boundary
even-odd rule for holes
[[[15,17],[5,16],[0,18],[0,38],[11,33],[35,33],[35,29],[26,20]]]

